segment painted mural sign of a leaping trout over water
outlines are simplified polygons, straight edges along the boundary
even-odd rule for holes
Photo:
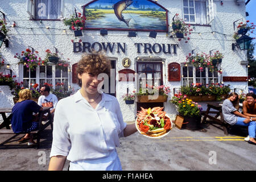
[[[151,0],[94,0],[83,6],[85,29],[168,32],[168,10]]]

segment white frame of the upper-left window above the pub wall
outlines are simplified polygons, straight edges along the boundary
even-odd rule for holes
[[[36,18],[36,0],[27,0],[27,13],[30,15],[30,20],[49,20],[61,21],[64,18],[64,4],[65,0],[61,0],[60,16],[57,19],[38,19]]]

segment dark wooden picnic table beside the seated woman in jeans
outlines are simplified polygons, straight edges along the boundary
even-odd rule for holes
[[[214,111],[210,111],[210,109],[214,109]],[[209,114],[216,114],[214,117]],[[204,115],[203,123],[207,123],[206,119],[209,118],[213,122],[219,124],[222,126],[222,129],[224,131],[225,135],[228,135],[228,123],[225,122],[223,115],[222,115],[222,102],[208,102],[207,103],[207,110],[205,113],[202,113]],[[220,116],[220,119],[218,117]]]

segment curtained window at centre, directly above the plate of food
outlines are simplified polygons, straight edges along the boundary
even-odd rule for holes
[[[139,74],[139,88],[142,88],[143,78],[146,78],[146,87],[163,85],[162,62],[137,62]]]

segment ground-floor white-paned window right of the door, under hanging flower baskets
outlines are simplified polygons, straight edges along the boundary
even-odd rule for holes
[[[216,84],[220,82],[220,77],[217,71],[210,72],[209,69],[203,68],[201,71],[199,68],[195,68],[192,65],[182,67],[182,85],[190,86],[191,84],[200,83],[202,85]]]

